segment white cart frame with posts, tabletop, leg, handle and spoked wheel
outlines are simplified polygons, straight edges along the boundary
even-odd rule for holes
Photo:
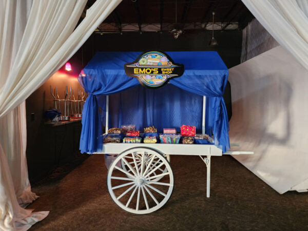
[[[109,98],[106,102],[106,130],[108,130]],[[203,98],[203,121],[205,118]],[[205,125],[202,126],[205,131]],[[238,144],[231,144],[238,146]],[[227,151],[213,144],[145,144],[107,143],[102,152],[95,154],[120,155],[111,163],[107,174],[107,187],[112,200],[119,207],[133,214],[149,214],[161,208],[174,189],[170,155],[200,156],[206,164],[206,197],[210,192],[211,156],[252,155],[252,151]],[[122,167],[118,167],[121,163]],[[118,165],[118,166],[117,166]],[[187,176],[189,177],[189,176]]]

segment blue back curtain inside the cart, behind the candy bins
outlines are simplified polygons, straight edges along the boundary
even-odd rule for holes
[[[210,101],[207,101],[209,107]],[[98,100],[102,109],[102,123],[105,124],[106,97]],[[148,89],[141,85],[119,94],[109,96],[109,127],[121,127],[136,124],[143,131],[144,127],[154,125],[158,132],[164,128],[176,128],[182,124],[194,125],[197,132],[202,132],[203,97],[167,84],[160,89]],[[211,133],[208,112],[206,111],[206,132]]]

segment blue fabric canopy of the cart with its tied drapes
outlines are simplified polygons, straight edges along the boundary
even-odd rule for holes
[[[88,153],[102,150],[101,121],[105,114],[105,95],[110,94],[115,94],[110,102],[113,107],[111,112],[114,112],[110,115],[111,125],[138,124],[139,129],[155,125],[159,130],[182,124],[195,125],[200,129],[202,96],[205,95],[206,131],[213,131],[215,145],[223,152],[229,149],[228,116],[222,97],[228,69],[219,54],[215,51],[167,52],[176,63],[184,64],[185,71],[179,78],[170,79],[169,84],[161,89],[141,87],[136,78],[125,74],[124,64],[133,62],[140,54],[98,52],[79,75],[80,84],[89,93],[83,109],[80,150]],[[126,90],[128,93],[123,92]],[[102,115],[99,108],[102,109]],[[123,118],[129,120],[123,122]]]

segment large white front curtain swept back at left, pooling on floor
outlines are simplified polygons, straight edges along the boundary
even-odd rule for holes
[[[27,23],[17,49],[15,44],[19,43],[13,43],[14,31],[17,29],[16,22],[20,20],[18,5],[22,2],[0,1],[0,120],[4,128],[0,130],[1,230],[26,230],[48,215],[48,212],[31,213],[17,203],[14,184],[27,182],[28,176],[25,176],[26,139],[23,136],[25,111],[21,112],[22,107],[19,107],[20,111],[14,108],[64,65],[121,1],[97,0],[74,30],[86,0],[34,0],[28,20],[24,21]],[[18,117],[21,113],[23,115]],[[7,123],[14,120],[15,124]],[[12,134],[19,136],[15,142],[12,142]],[[13,179],[9,166],[12,172],[17,172]]]

